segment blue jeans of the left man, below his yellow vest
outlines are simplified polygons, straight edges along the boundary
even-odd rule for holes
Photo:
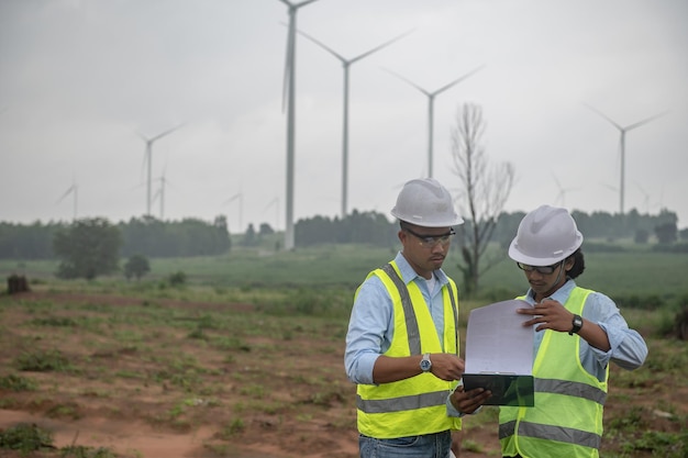
[[[395,439],[376,439],[358,435],[360,458],[448,458],[451,447],[450,431]]]

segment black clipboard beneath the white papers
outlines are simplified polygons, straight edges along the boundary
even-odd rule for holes
[[[484,388],[492,392],[485,405],[532,407],[535,405],[533,376],[515,373],[464,373],[464,390]]]

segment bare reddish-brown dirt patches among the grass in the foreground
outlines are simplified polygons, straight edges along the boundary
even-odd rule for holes
[[[0,308],[8,301],[16,301],[14,297],[0,297]],[[126,303],[132,299],[113,297],[70,297],[64,293],[55,295],[48,292],[31,292],[21,297],[22,303],[32,301],[82,301],[90,304],[115,301]],[[201,310],[212,309],[218,304],[189,304],[168,302],[169,308],[189,308]],[[226,306],[226,305],[223,305]],[[10,310],[10,309],[8,309]],[[16,310],[16,309],[12,309]],[[252,308],[245,304],[235,304],[233,310],[237,313],[252,313]],[[21,326],[26,316],[15,316],[14,312],[2,311],[2,328],[14,335],[15,342],[21,342],[22,335],[31,334]],[[47,338],[47,337],[46,337]],[[127,354],[126,348],[108,351],[85,348],[82,339],[69,336],[60,336],[59,347],[64,353],[92,358],[98,364],[104,358],[111,370],[138,370],[145,371],[141,360]],[[97,336],[92,337],[97,340]],[[0,340],[3,345],[10,345],[9,339]],[[152,418],[160,418],[163,412],[169,411],[175,396],[179,395],[165,384],[146,383],[141,386],[137,380],[126,380],[110,377],[103,382],[102,377],[70,377],[57,372],[31,372],[31,377],[40,381],[38,392],[10,392],[0,388],[0,429],[5,429],[19,423],[36,424],[42,428],[54,433],[54,445],[65,447],[73,444],[91,447],[109,447],[116,450],[122,457],[137,458],[215,458],[219,456],[231,458],[354,458],[358,456],[357,433],[355,429],[354,395],[355,387],[351,384],[343,373],[343,344],[335,345],[328,351],[307,351],[318,346],[332,346],[331,340],[313,342],[311,336],[295,336],[289,340],[276,338],[274,342],[263,339],[264,348],[274,348],[277,357],[273,357],[269,364],[274,380],[267,383],[269,398],[281,400],[285,403],[299,404],[303,411],[299,414],[286,412],[270,414],[260,411],[245,409],[242,413],[241,432],[224,435],[219,439],[219,431],[228,424],[226,409],[206,409],[202,416],[198,415],[192,421],[176,424],[175,422],[152,422]],[[170,348],[170,351],[184,348]],[[9,367],[11,357],[16,348],[1,348],[0,376],[4,368]],[[301,360],[300,355],[308,354],[308,360]],[[245,389],[241,388],[234,378],[223,378],[223,375],[233,371],[243,371],[246,380],[249,380],[252,371],[259,371],[255,354],[246,354],[233,365],[219,364],[217,360],[208,361],[215,366],[224,366],[218,376],[219,381],[226,386],[222,391],[222,405],[233,406],[245,402]],[[252,359],[254,358],[254,359]],[[137,361],[137,362],[136,362]],[[96,362],[95,362],[96,365]],[[312,393],[322,388],[315,387],[309,381],[309,370],[318,368],[318,373],[326,373],[332,378],[335,391],[324,391],[329,399],[314,402]],[[297,376],[295,376],[295,372]],[[236,376],[236,373],[234,373]],[[302,383],[302,384],[300,384]],[[613,387],[613,382],[612,382]],[[103,396],[99,393],[104,391],[116,392],[118,395]],[[612,388],[612,390],[614,390]],[[637,393],[637,388],[625,389],[632,395]],[[321,391],[322,392],[322,391]],[[686,388],[681,388],[680,398],[688,399]],[[202,399],[198,400],[201,404]],[[645,399],[651,405],[652,402]],[[611,405],[610,405],[611,404]],[[688,401],[685,402],[688,404]],[[686,405],[681,405],[681,412],[686,413]],[[69,409],[71,406],[71,410]],[[192,407],[188,407],[192,409]],[[608,403],[608,410],[623,410],[624,406],[614,402]],[[62,410],[62,411],[60,411]],[[62,412],[62,414],[56,414]],[[70,414],[75,413],[75,414]],[[78,414],[76,414],[78,413]],[[666,421],[657,414],[655,421]],[[296,417],[295,417],[296,416]],[[465,425],[465,435],[470,442],[465,447],[460,457],[495,457],[499,456],[499,443],[497,439],[496,421],[486,422],[485,418],[469,417]],[[214,445],[209,447],[209,444]],[[477,450],[477,451],[476,451]],[[19,457],[10,451],[0,449],[0,457]],[[42,456],[38,454],[31,455]],[[52,455],[46,455],[52,456]],[[650,455],[647,455],[650,456]]]

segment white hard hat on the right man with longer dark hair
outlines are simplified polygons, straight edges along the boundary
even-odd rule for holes
[[[574,254],[582,234],[566,209],[542,205],[526,214],[509,246],[509,257],[531,266],[551,266]]]

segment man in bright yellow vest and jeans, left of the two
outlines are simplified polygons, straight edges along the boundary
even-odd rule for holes
[[[360,457],[447,458],[460,429],[454,406],[473,413],[489,396],[456,389],[458,292],[442,264],[463,220],[432,178],[407,182],[391,214],[402,249],[358,287],[346,334]]]

